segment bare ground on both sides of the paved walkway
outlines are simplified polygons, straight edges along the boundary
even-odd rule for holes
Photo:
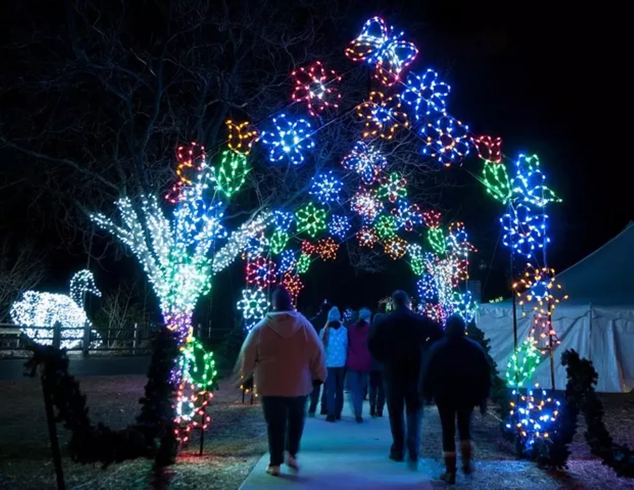
[[[91,420],[113,428],[133,422],[138,413],[137,400],[143,392],[145,377],[91,377],[80,380],[88,397]],[[39,380],[28,378],[0,382],[0,489],[55,488],[54,468],[48,447],[48,433]],[[605,423],[614,440],[634,446],[634,394],[603,395]],[[257,460],[266,452],[266,429],[261,408],[242,404],[241,392],[222,383],[209,410],[212,425],[205,434],[204,455],[198,456],[198,437],[190,448],[179,453],[178,463],[161,475],[152,474],[151,461],[128,461],[108,468],[77,465],[68,456],[63,459],[67,488],[72,489],[223,489],[238,488]],[[491,409],[491,413],[494,411]],[[437,415],[424,416],[422,457],[439,460],[441,437]],[[475,456],[482,468],[513,472],[516,459],[503,442],[500,423],[493,415],[474,415]],[[583,439],[585,422],[571,446],[573,454],[566,472],[554,476],[562,489],[634,488],[634,482],[619,479],[610,468],[590,455]],[[60,427],[60,442],[68,440]],[[506,467],[506,468],[503,468]],[[484,475],[482,475],[484,477]],[[524,475],[522,475],[524,476]],[[493,475],[475,484],[482,488],[507,488]],[[540,468],[531,468],[529,487],[539,487],[546,477]],[[497,483],[500,483],[498,485]],[[436,487],[436,482],[434,482]],[[512,487],[512,486],[511,486]],[[509,487],[510,488],[510,487]]]

